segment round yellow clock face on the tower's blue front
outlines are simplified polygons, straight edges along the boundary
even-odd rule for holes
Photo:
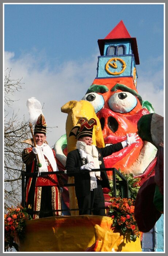
[[[114,71],[114,69],[118,69],[118,71]],[[110,75],[120,75],[126,69],[126,63],[121,58],[112,58],[107,61],[105,65],[105,70]]]

